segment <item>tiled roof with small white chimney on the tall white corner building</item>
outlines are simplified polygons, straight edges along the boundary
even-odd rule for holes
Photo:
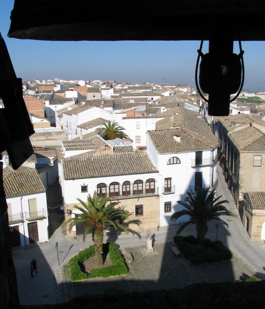
[[[205,132],[204,138],[196,136],[195,132],[187,132],[181,128],[147,131],[147,134],[159,154],[208,150],[218,146],[211,131]],[[180,137],[180,142],[175,140],[175,135]]]

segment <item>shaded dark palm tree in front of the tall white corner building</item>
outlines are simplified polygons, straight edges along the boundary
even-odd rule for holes
[[[186,226],[190,224],[196,224],[199,248],[203,247],[204,238],[208,231],[208,221],[211,221],[212,219],[217,219],[224,222],[225,225],[228,227],[228,224],[221,218],[219,218],[219,216],[232,216],[237,218],[236,214],[233,214],[224,205],[222,205],[224,203],[228,203],[227,200],[219,201],[222,196],[215,198],[215,191],[212,191],[210,193],[209,191],[210,188],[196,187],[197,193],[193,194],[191,190],[187,190],[187,202],[177,202],[180,205],[184,206],[185,209],[177,211],[171,216],[171,221],[175,221],[184,215],[190,216],[190,220],[184,222],[182,226],[180,226],[176,235],[179,235]]]

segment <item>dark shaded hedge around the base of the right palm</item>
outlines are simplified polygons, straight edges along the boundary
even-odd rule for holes
[[[193,265],[202,263],[214,263],[223,260],[230,260],[233,254],[228,250],[220,240],[204,239],[204,247],[206,250],[197,250],[196,246],[193,248],[189,244],[197,245],[197,238],[189,236],[175,236],[174,242],[179,250]],[[212,249],[211,254],[208,254],[207,248]]]

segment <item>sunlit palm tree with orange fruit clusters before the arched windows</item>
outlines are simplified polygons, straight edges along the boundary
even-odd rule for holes
[[[99,265],[103,265],[102,248],[103,248],[103,229],[108,225],[113,225],[115,229],[119,227],[128,234],[127,228],[124,224],[120,223],[120,218],[128,218],[128,211],[122,208],[114,208],[120,202],[111,202],[109,197],[103,197],[102,199],[97,195],[96,191],[93,196],[90,194],[87,197],[87,202],[77,199],[84,208],[74,205],[74,208],[80,210],[82,213],[77,214],[78,217],[70,218],[66,223],[71,222],[69,231],[73,226],[83,223],[83,241],[86,240],[88,232],[92,231],[92,239],[95,246],[95,260]],[[139,221],[139,220],[136,220]],[[128,223],[128,222],[127,222]],[[138,224],[137,222],[133,222]]]

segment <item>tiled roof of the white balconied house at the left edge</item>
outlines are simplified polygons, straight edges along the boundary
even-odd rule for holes
[[[46,192],[38,172],[34,168],[19,167],[17,170],[8,165],[3,169],[6,197],[16,197]]]

